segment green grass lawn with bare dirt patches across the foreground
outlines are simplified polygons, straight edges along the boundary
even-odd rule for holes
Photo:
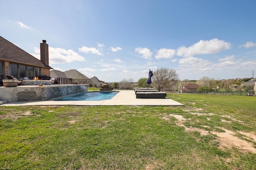
[[[256,97],[185,107],[0,106],[0,169],[256,170]]]

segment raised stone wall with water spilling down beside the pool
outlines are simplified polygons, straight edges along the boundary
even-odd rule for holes
[[[1,87],[0,100],[7,100],[8,102],[53,100],[55,98],[88,92],[87,87],[87,84]]]

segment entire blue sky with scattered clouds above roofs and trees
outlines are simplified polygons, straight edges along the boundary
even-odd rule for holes
[[[255,0],[0,0],[0,35],[56,70],[105,82],[256,76]]]

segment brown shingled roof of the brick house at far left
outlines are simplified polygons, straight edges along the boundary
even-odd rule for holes
[[[36,57],[30,55],[26,51],[20,49],[10,41],[7,41],[0,36],[0,60],[11,63],[26,64],[31,66],[38,66],[43,68],[51,68],[45,65]]]

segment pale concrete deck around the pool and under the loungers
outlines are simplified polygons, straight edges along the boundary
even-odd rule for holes
[[[114,90],[118,91],[118,90]],[[89,91],[90,92],[90,91]],[[172,99],[136,99],[134,90],[120,90],[110,100],[100,101],[31,101],[31,102],[10,102],[0,106],[184,106]]]

